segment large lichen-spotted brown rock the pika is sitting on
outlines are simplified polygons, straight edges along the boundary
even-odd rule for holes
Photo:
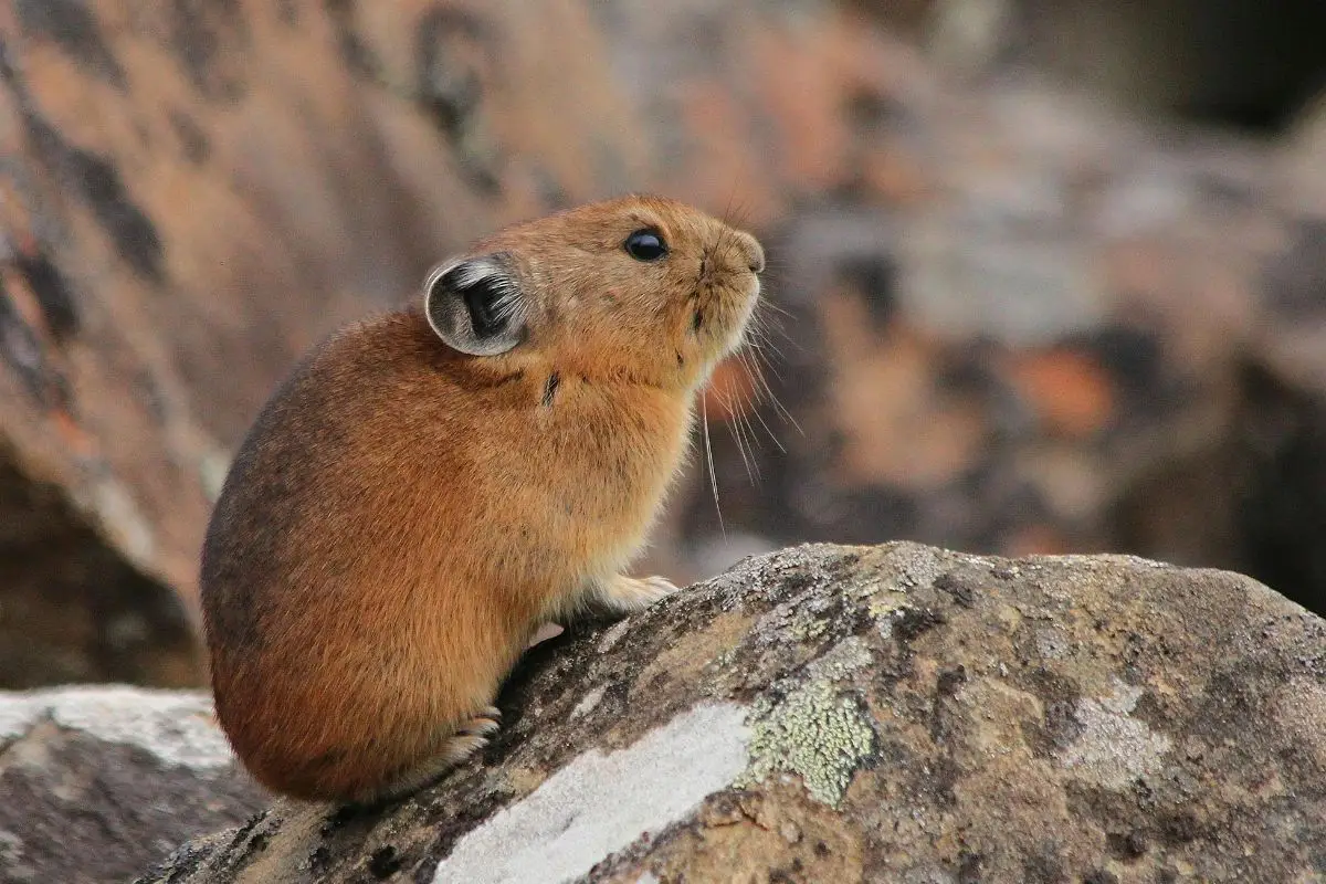
[[[540,645],[396,806],[277,803],[141,881],[1306,881],[1326,623],[1136,558],[749,559]]]

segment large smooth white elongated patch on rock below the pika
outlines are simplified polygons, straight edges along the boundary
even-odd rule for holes
[[[631,746],[594,749],[461,838],[434,881],[574,880],[643,832],[684,820],[747,769],[744,706],[705,704]]]

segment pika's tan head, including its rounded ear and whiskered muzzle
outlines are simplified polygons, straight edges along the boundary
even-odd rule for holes
[[[762,269],[749,233],[631,196],[496,233],[434,269],[424,309],[472,357],[693,387],[740,345]]]

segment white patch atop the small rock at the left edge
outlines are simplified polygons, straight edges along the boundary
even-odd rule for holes
[[[0,740],[20,738],[42,720],[138,746],[170,766],[220,770],[235,759],[212,721],[211,700],[199,692],[80,685],[0,694]]]

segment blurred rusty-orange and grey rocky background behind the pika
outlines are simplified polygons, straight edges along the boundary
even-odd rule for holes
[[[633,190],[770,253],[705,400],[720,508],[697,457],[642,569],[1115,550],[1326,611],[1323,34],[1317,0],[4,0],[0,687],[202,684],[208,508],[292,362]]]

